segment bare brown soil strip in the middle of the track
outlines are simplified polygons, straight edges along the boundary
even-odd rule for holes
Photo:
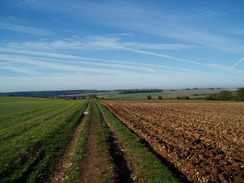
[[[99,131],[99,127],[95,122],[95,118],[95,114],[92,113],[87,145],[79,167],[81,176],[74,181],[75,183],[102,183],[105,174],[111,172],[111,169],[109,169],[109,164],[111,164],[110,154],[104,147],[97,144],[96,133]]]

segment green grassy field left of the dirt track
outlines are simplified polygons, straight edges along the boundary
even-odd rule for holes
[[[44,182],[87,101],[0,97],[1,182]]]

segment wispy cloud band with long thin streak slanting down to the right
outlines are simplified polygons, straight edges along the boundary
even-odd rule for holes
[[[146,50],[169,50],[169,49],[179,49],[179,48],[188,48],[190,45],[182,44],[145,44],[145,43],[136,43],[136,42],[123,42],[119,37],[105,37],[105,36],[87,36],[82,40],[73,40],[73,41],[54,41],[54,42],[25,42],[23,44],[19,43],[10,43],[10,48],[26,48],[26,49],[118,49],[126,50],[130,52],[136,52],[140,54],[152,55],[157,57],[162,57],[178,62],[185,62],[188,64],[195,64],[205,67],[224,69],[223,67],[216,67],[211,64],[202,64],[195,61],[185,60],[166,54],[159,54]],[[224,70],[227,70],[226,67]]]

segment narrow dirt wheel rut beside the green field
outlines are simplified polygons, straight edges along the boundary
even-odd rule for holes
[[[87,107],[86,111],[88,111],[89,106]],[[64,155],[60,159],[60,161],[57,164],[57,169],[51,174],[50,180],[48,182],[50,183],[59,183],[62,180],[66,178],[65,172],[68,170],[68,168],[72,165],[70,160],[74,155],[75,147],[79,139],[79,134],[85,124],[86,116],[84,115],[80,121],[80,123],[77,125],[72,139],[69,142],[69,145],[67,146]]]

